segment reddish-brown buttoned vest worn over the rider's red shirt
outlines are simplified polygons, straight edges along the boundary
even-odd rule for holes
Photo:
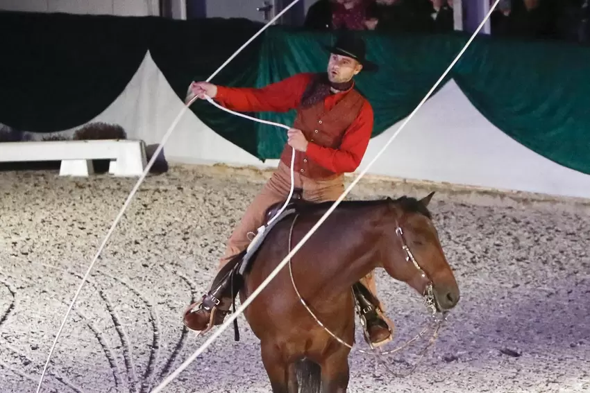
[[[339,148],[344,132],[357,118],[364,101],[365,98],[353,88],[328,112],[324,110],[323,101],[310,107],[298,107],[293,128],[301,130],[307,141],[328,148]],[[289,167],[292,151],[291,146],[285,143],[280,155],[280,161]],[[296,150],[295,153],[294,170],[305,177],[323,179],[341,175],[314,163],[305,152]]]

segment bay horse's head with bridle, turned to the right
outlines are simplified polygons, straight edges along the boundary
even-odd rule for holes
[[[391,200],[381,262],[391,277],[433,296],[437,310],[448,311],[459,302],[460,294],[427,209],[432,195],[422,200]]]

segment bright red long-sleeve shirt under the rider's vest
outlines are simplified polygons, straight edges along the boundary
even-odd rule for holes
[[[218,86],[215,101],[237,112],[288,112],[299,105],[312,76],[312,73],[298,73],[261,89]],[[324,108],[332,109],[344,97],[344,93],[327,96],[323,101]],[[372,132],[373,108],[369,101],[365,101],[357,118],[344,132],[339,148],[326,148],[308,141],[305,154],[332,172],[354,172],[362,161]]]

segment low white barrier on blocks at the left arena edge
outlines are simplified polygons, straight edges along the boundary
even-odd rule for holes
[[[110,159],[109,173],[115,176],[141,176],[147,165],[143,141],[93,139],[0,143],[0,161],[61,161],[60,176],[94,173],[93,159]]]

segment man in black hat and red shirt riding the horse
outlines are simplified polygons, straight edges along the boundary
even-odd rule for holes
[[[296,150],[294,187],[310,202],[337,200],[344,192],[344,173],[355,171],[362,160],[373,129],[373,110],[354,89],[353,76],[362,69],[370,71],[377,67],[365,60],[364,42],[352,33],[343,32],[335,46],[326,49],[331,52],[327,73],[299,73],[262,89],[221,87],[208,82],[193,82],[190,87],[192,94],[199,98],[205,94],[230,110],[296,109],[297,116],[293,128],[287,132],[287,146],[277,171],[251,202],[230,236],[219,261],[215,288],[185,311],[184,323],[189,329],[206,331],[223,323],[233,299],[228,294],[230,280],[219,280],[223,278],[221,270],[233,256],[246,250],[251,236],[264,225],[267,209],[287,199],[292,148]],[[375,297],[372,302],[367,300],[370,295],[365,297],[362,287],[355,285],[356,298],[364,310],[367,340],[377,347],[391,340],[393,326],[381,316],[372,272],[361,283]]]

